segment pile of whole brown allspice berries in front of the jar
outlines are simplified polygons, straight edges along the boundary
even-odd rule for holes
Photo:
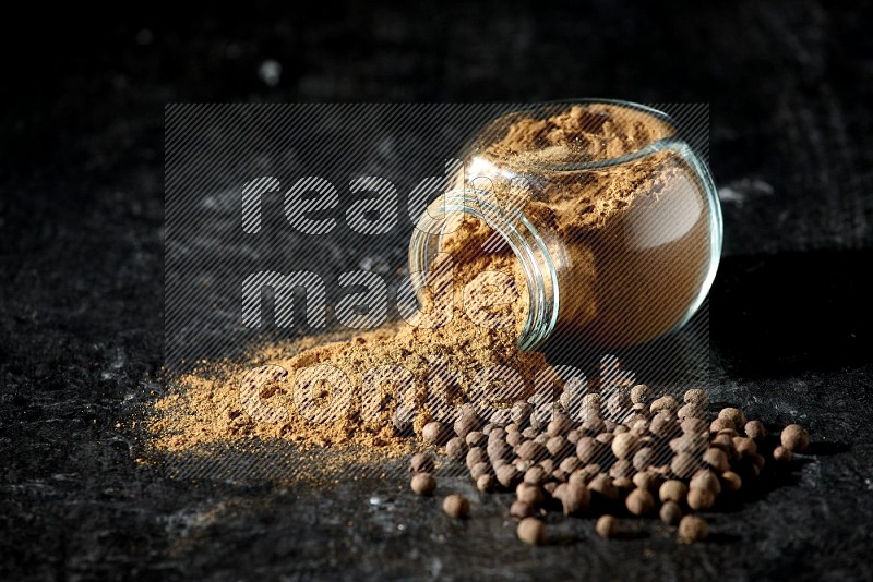
[[[465,460],[480,492],[515,492],[509,514],[518,538],[534,545],[547,542],[540,518],[550,510],[597,517],[605,538],[620,534],[619,518],[658,516],[680,542],[701,542],[708,528],[698,512],[739,499],[766,463],[786,468],[810,442],[797,424],[776,438],[740,409],[709,413],[702,389],[687,390],[682,402],[653,398],[645,385],[576,397],[565,390],[552,407],[516,402],[503,423],[486,422],[465,404],[454,425],[431,422],[421,437]],[[434,493],[434,468],[430,453],[412,457],[416,494]],[[470,504],[452,494],[443,510],[468,518]]]

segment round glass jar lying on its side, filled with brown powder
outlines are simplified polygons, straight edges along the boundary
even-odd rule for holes
[[[519,349],[643,343],[686,323],[709,291],[718,196],[667,114],[623,101],[519,110],[489,123],[463,161],[412,233],[409,269],[428,272],[441,253],[511,257]]]

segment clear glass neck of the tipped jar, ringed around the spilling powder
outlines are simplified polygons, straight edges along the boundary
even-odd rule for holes
[[[409,241],[409,272],[427,274],[440,253],[449,218],[462,214],[483,220],[512,248],[525,276],[528,294],[527,319],[519,332],[522,351],[546,341],[558,322],[560,289],[558,271],[540,233],[521,209],[504,209],[488,201],[493,196],[478,190],[453,190],[433,201],[421,215]],[[412,277],[421,303],[423,278]]]

